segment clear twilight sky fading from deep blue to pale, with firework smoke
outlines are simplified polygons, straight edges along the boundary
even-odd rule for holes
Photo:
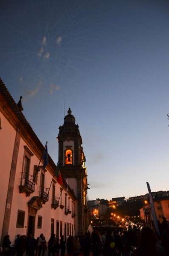
[[[71,108],[90,200],[169,190],[168,0],[1,0],[0,77],[55,163]]]

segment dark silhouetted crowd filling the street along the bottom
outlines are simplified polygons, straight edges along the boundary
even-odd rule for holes
[[[127,230],[116,229],[106,232],[94,230],[81,236],[64,236],[59,240],[51,235],[48,243],[41,234],[33,236],[17,235],[14,247],[10,237],[3,240],[4,256],[169,256],[169,226],[166,218],[159,223],[160,235],[150,227],[141,229],[129,225]]]

